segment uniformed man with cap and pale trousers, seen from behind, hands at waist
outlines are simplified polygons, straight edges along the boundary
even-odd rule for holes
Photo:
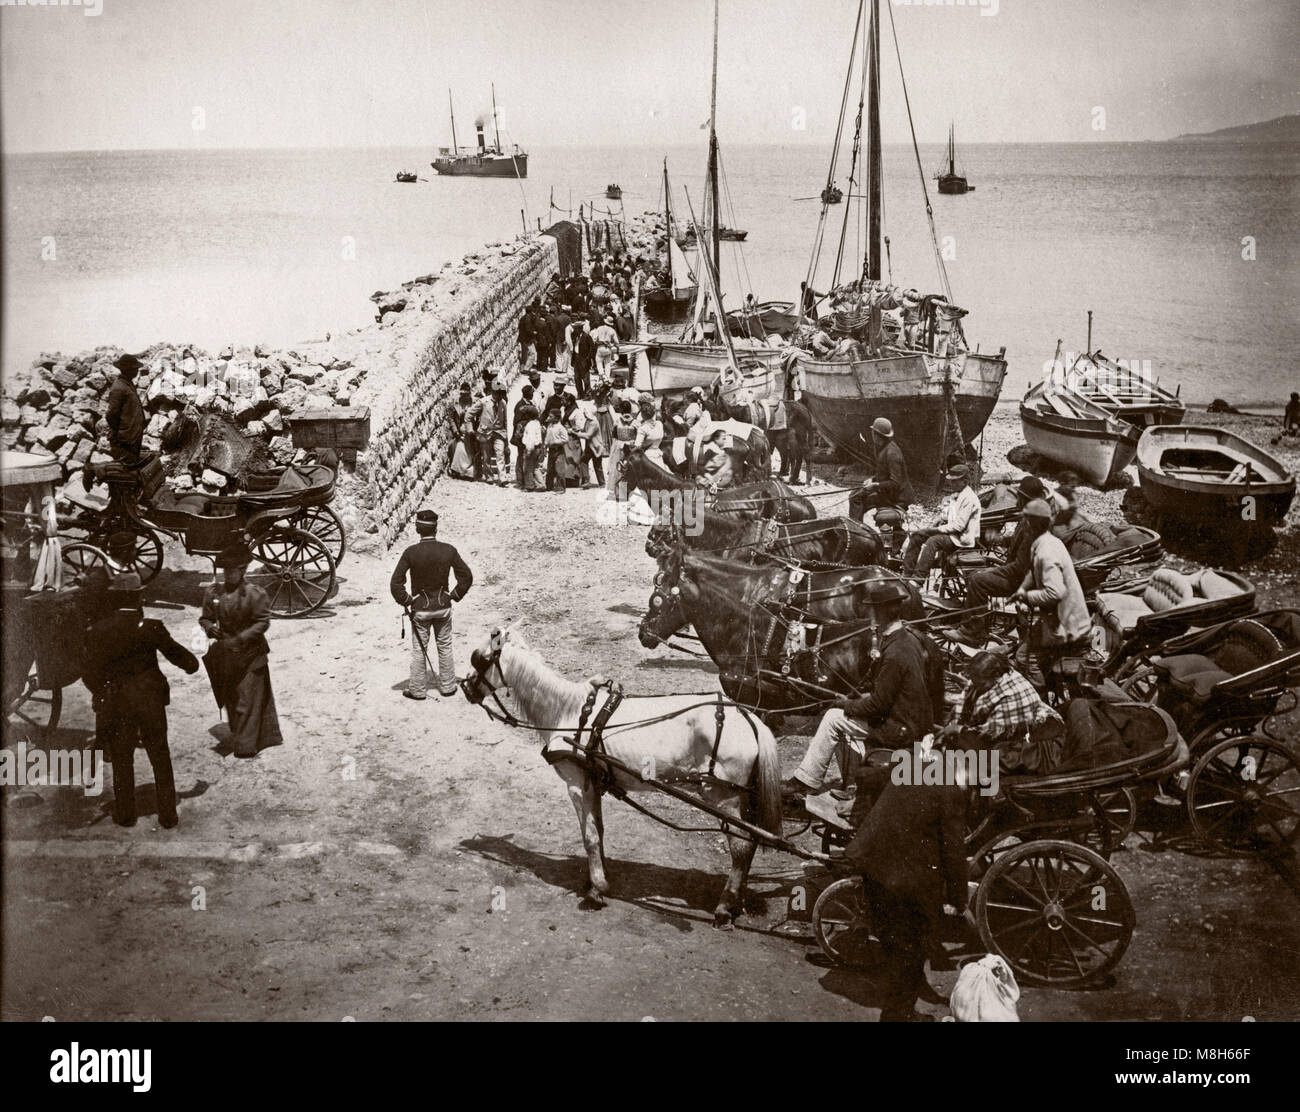
[[[438,642],[438,691],[451,697],[456,693],[451,603],[465,597],[474,576],[460,553],[437,538],[438,515],[433,510],[421,510],[415,515],[415,531],[420,540],[402,553],[389,583],[393,598],[411,615],[411,682],[402,693],[407,698],[425,698],[432,628]],[[456,587],[455,590],[447,590],[447,577],[452,571],[456,574]],[[410,590],[407,575],[411,576]]]

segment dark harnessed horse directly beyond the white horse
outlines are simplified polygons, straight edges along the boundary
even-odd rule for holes
[[[812,710],[861,695],[885,624],[878,607],[901,603],[904,620],[926,616],[916,589],[880,567],[755,567],[685,548],[668,563],[655,576],[641,644],[651,649],[694,626],[723,691],[762,710]]]

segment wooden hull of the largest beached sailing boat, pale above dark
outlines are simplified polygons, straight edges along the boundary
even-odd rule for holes
[[[966,352],[894,355],[861,362],[803,359],[803,403],[837,447],[871,459],[871,423],[887,417],[913,484],[933,485],[948,397],[967,443],[979,440],[1006,378],[1006,360]]]

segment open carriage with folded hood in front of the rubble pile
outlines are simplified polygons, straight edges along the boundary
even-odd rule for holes
[[[134,538],[125,564],[151,581],[162,567],[161,536],[179,540],[190,555],[214,559],[243,541],[252,551],[247,581],[270,598],[272,614],[300,618],[317,610],[334,588],[344,551],[343,527],[329,509],[334,472],[321,464],[286,467],[254,476],[259,489],[235,494],[177,494],[164,484],[161,464],[147,457],[139,466],[107,463],[91,467],[91,485],[108,489],[107,505],[84,489],[69,489],[81,512],[61,525],[84,538],[66,545],[64,563],[74,576],[104,566],[108,537]],[[161,536],[160,536],[161,535]]]

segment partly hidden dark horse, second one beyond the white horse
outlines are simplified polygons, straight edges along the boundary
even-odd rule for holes
[[[685,528],[689,524],[692,528]],[[790,524],[748,520],[733,514],[698,510],[693,520],[655,522],[646,537],[646,555],[664,568],[672,548],[688,548],[724,559],[758,563],[767,557],[801,563],[864,567],[880,563],[884,544],[870,525],[852,518],[814,518]]]

